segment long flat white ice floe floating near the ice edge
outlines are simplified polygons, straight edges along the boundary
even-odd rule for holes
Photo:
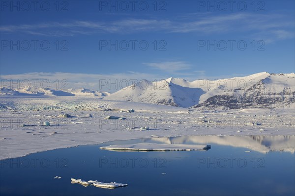
[[[186,144],[155,144],[155,143],[138,143],[127,145],[111,145],[100,147],[106,150],[122,151],[189,151],[189,150],[208,150],[210,145],[186,145]]]

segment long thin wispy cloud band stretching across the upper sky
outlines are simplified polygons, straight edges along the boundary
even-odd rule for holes
[[[198,17],[173,19],[128,18],[110,22],[72,21],[42,24],[1,25],[1,32],[27,33],[44,36],[75,36],[101,33],[128,34],[138,32],[164,33],[228,33],[248,32],[249,36],[266,34],[269,39],[294,38],[294,21],[284,14],[231,13],[223,15],[203,14]],[[293,35],[293,36],[292,36]]]

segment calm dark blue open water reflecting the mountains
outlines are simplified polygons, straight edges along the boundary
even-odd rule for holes
[[[141,142],[206,144],[202,151],[99,149]],[[0,161],[0,195],[295,195],[295,136],[179,136],[108,142]],[[55,179],[60,176],[60,179]],[[126,183],[102,189],[71,178]]]

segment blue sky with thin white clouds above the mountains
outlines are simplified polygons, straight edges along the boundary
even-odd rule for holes
[[[294,0],[26,2],[1,0],[1,78],[74,78],[95,89],[94,78],[295,71]]]

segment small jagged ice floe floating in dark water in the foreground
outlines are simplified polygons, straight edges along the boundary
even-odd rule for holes
[[[122,183],[117,183],[117,182],[98,182],[97,180],[89,180],[89,181],[84,181],[82,179],[75,179],[75,178],[71,178],[71,183],[72,184],[81,184],[85,187],[89,186],[89,185],[93,185],[95,187],[99,187],[99,188],[106,188],[106,189],[115,189],[118,187],[126,187],[128,186],[128,184],[122,184]]]

